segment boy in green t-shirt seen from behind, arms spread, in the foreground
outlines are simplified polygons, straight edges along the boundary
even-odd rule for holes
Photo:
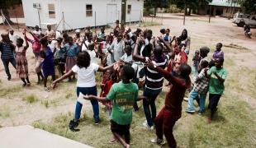
[[[111,86],[107,97],[97,97],[88,95],[84,99],[97,99],[98,101],[113,102],[111,112],[111,132],[114,140],[118,141],[125,147],[130,147],[130,123],[132,121],[132,109],[135,101],[138,100],[138,86],[130,82],[135,75],[132,67],[125,65],[122,67],[120,76],[121,81]],[[143,99],[140,97],[140,99]],[[123,139],[124,136],[124,139]]]

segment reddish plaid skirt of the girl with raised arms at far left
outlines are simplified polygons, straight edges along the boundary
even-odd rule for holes
[[[19,78],[26,78],[28,76],[28,66],[26,57],[19,57],[16,59],[17,62],[17,75]]]

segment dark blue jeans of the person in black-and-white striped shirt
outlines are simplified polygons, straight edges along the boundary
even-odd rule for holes
[[[146,87],[144,89],[143,96],[145,96],[147,99],[143,99],[143,108],[149,127],[152,127],[154,125],[154,118],[156,117],[156,107],[154,101],[161,91],[162,89],[151,90]],[[149,107],[151,109],[151,112]]]

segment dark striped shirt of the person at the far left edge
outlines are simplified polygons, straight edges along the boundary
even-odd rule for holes
[[[7,43],[0,44],[2,59],[14,58],[14,54],[13,54],[14,49],[12,49],[13,48],[12,46],[13,46],[12,44],[7,44]]]

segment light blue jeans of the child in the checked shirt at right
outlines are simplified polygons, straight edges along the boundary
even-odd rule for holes
[[[197,91],[192,90],[189,93],[188,103],[187,103],[187,112],[195,112],[194,108],[194,99],[197,99],[199,95],[199,113],[203,113],[205,111],[205,103],[206,103],[206,94],[199,94]]]

